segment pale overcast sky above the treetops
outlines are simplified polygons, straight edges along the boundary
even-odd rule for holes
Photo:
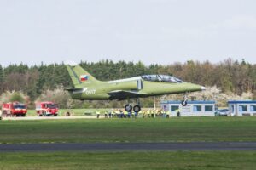
[[[256,63],[255,0],[0,0],[0,64]]]

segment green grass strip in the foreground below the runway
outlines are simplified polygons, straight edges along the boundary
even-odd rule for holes
[[[255,169],[256,151],[0,153],[0,169]]]

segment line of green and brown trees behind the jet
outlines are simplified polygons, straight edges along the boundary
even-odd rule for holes
[[[189,60],[185,63],[170,65],[144,65],[143,62],[125,62],[102,60],[96,63],[81,61],[86,71],[99,80],[107,81],[146,74],[166,74],[178,77],[186,82],[204,86],[217,86],[222,92],[241,95],[243,92],[256,92],[256,65],[241,61],[225,59],[217,64],[210,61]],[[0,65],[0,94],[6,91],[21,91],[31,101],[47,90],[57,87],[73,86],[64,64],[53,65]]]

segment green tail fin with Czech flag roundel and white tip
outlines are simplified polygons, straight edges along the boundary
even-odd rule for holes
[[[80,65],[67,65],[67,71],[72,79],[74,87],[98,82],[95,77],[92,77],[90,73],[85,71]]]

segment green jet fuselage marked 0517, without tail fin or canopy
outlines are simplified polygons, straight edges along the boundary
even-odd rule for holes
[[[82,100],[107,100],[107,99],[131,99],[144,98],[149,96],[164,94],[183,94],[187,92],[201,91],[202,87],[197,84],[182,82],[149,82],[138,77],[123,79],[109,82],[97,82],[93,85],[90,83],[83,85],[80,91],[71,91],[73,99]],[[110,95],[110,93],[118,91],[131,92],[131,95],[119,94]],[[134,93],[134,96],[132,95]]]

